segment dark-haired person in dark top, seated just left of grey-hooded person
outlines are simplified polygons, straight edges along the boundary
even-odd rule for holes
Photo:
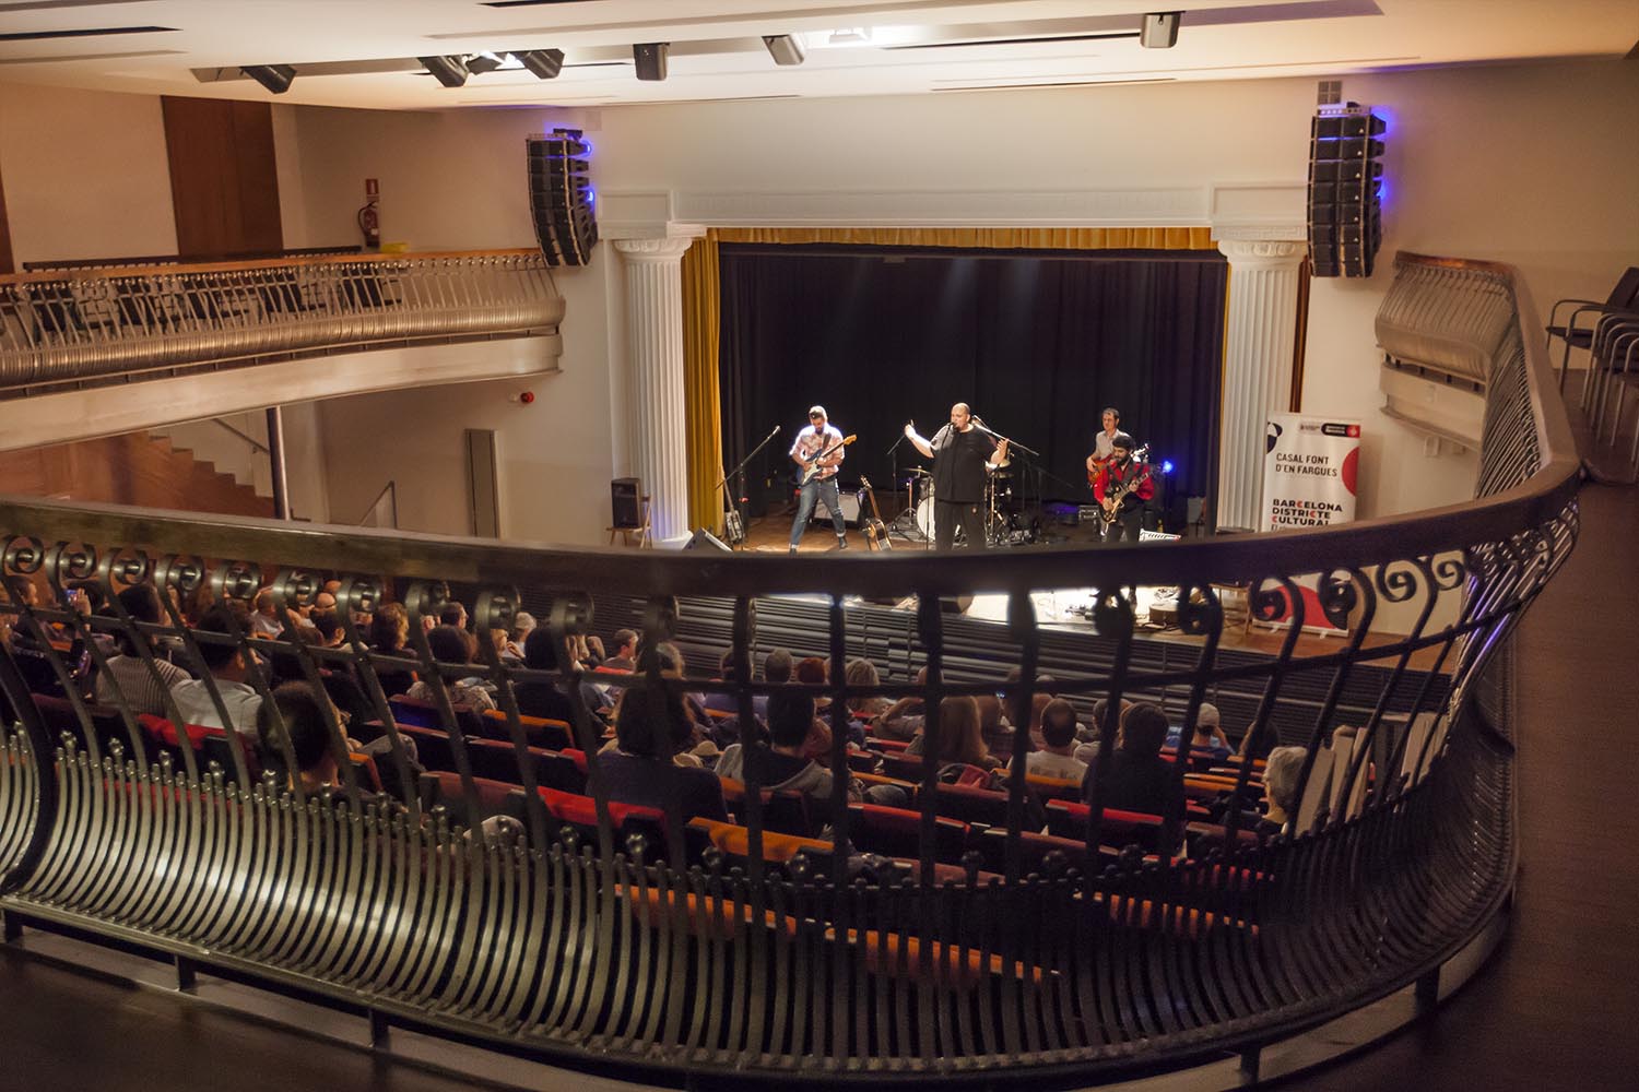
[[[685,824],[695,815],[728,820],[716,774],[672,761],[692,733],[693,724],[674,684],[651,686],[644,679],[628,686],[615,715],[615,748],[598,756],[610,799],[664,810],[670,797]]]

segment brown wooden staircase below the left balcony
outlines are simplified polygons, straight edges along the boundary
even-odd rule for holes
[[[170,508],[223,516],[274,516],[274,501],[220,473],[166,437],[126,432],[0,452],[0,493]]]

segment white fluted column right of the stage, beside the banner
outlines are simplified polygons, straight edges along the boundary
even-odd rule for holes
[[[1303,242],[1226,239],[1229,318],[1224,329],[1223,421],[1218,434],[1218,527],[1257,529],[1264,431],[1292,406]]]

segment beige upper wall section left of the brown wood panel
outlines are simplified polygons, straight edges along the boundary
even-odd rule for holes
[[[157,95],[0,83],[0,172],[18,268],[177,252]]]

